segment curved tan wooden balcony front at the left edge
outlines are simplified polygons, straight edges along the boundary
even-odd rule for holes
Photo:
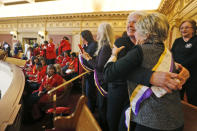
[[[18,111],[21,108],[20,100],[25,85],[25,77],[21,69],[17,66],[3,61],[0,64],[10,68],[13,73],[11,85],[0,100],[0,131],[5,131],[8,125],[14,123]]]

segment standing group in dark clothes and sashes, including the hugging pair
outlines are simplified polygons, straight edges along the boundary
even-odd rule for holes
[[[92,71],[86,77],[88,106],[94,113],[97,99],[104,131],[183,130],[179,91],[189,72],[166,48],[168,30],[164,15],[133,12],[127,35],[115,42],[108,23],[98,27],[97,43],[87,41],[90,31],[82,31],[82,63]]]

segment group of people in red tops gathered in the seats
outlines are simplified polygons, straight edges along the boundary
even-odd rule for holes
[[[50,100],[47,91],[78,75],[78,58],[71,52],[69,39],[65,36],[56,54],[53,40],[42,45],[28,47],[22,59],[26,60],[22,68],[26,77],[23,101],[24,122],[33,122],[42,117],[41,106]],[[57,95],[63,93],[63,88]]]

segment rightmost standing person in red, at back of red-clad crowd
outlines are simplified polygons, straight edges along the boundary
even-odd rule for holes
[[[60,46],[58,48],[58,55],[60,55],[64,51],[67,51],[69,54],[71,52],[71,45],[69,43],[68,37],[66,36],[64,36],[63,40],[60,43]]]

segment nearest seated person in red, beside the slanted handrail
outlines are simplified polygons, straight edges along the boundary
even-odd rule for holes
[[[56,73],[55,67],[51,64],[47,66],[47,75],[43,78],[38,90],[35,90],[27,99],[24,99],[24,112],[28,120],[33,120],[41,116],[33,116],[32,112],[39,112],[39,103],[47,103],[50,96],[47,93],[52,88],[62,84],[64,79]],[[57,95],[63,91],[59,89]]]

